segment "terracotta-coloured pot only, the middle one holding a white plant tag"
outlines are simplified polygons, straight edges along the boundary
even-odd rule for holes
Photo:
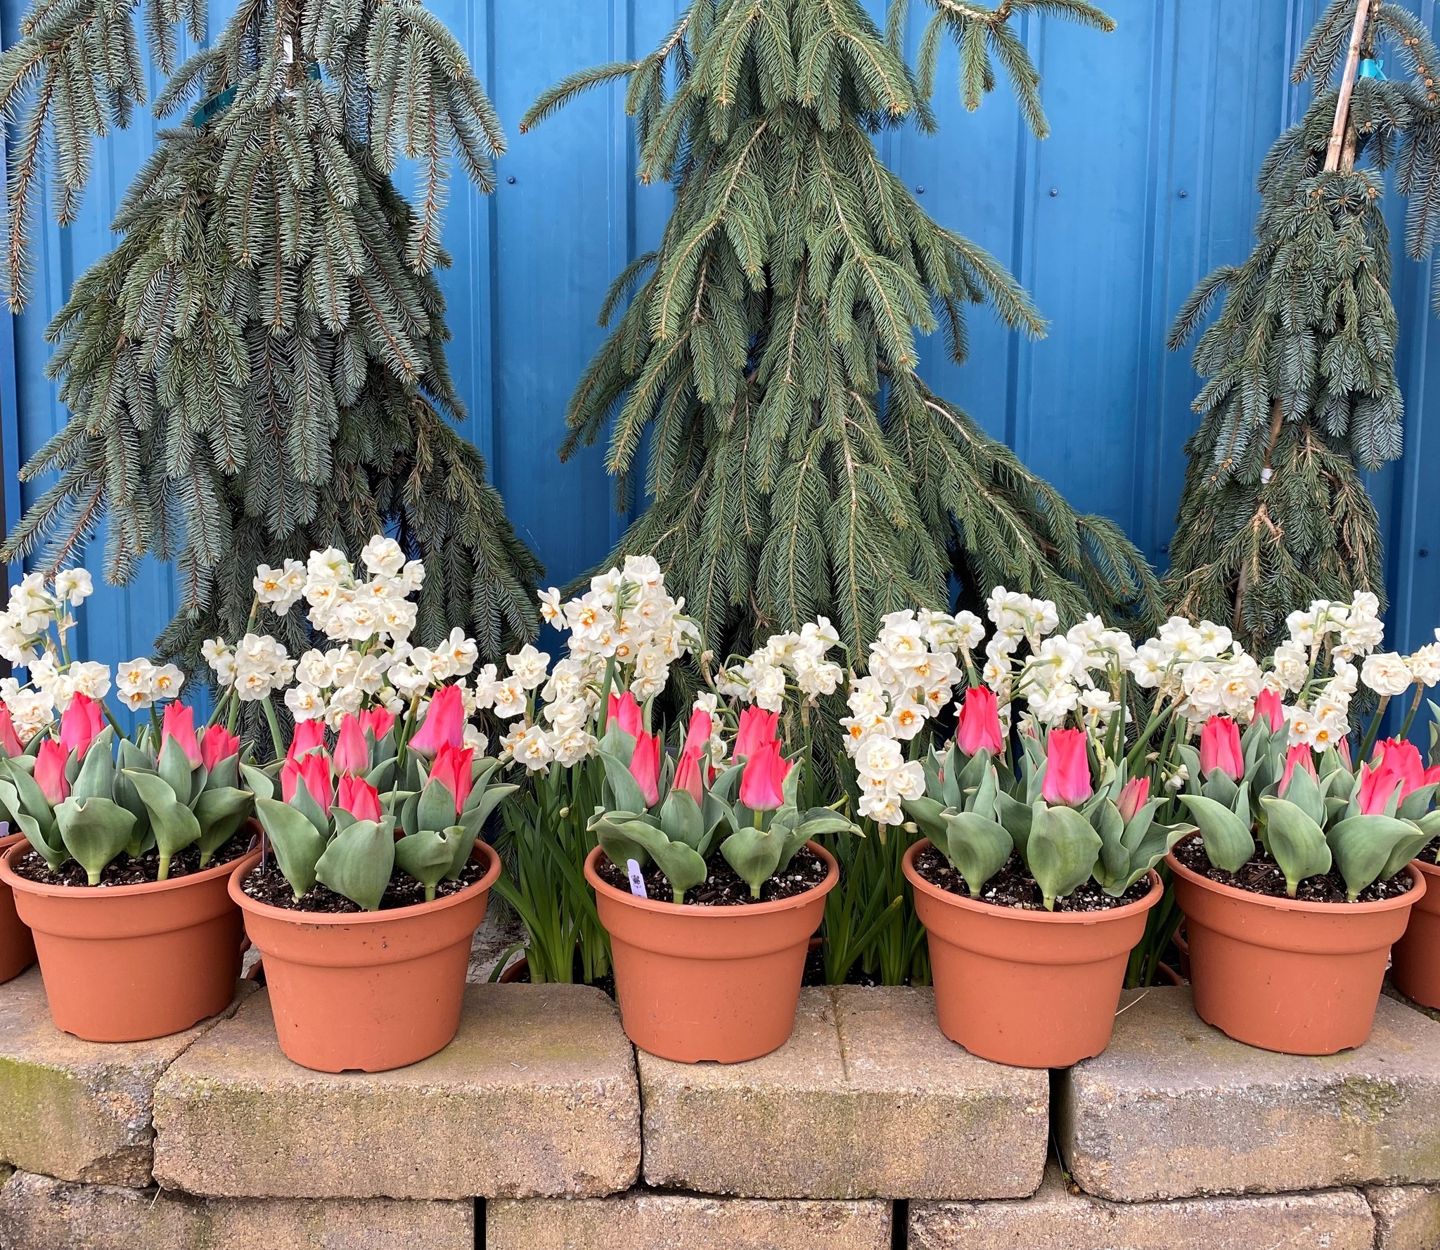
[[[740,1063],[778,1050],[795,1027],[811,935],[840,865],[808,842],[829,871],[814,890],[743,907],[675,906],[616,890],[585,861],[600,923],[611,935],[615,997],[625,1034],[641,1050],[680,1063]]]

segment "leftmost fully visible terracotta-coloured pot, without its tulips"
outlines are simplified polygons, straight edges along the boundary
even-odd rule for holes
[[[14,873],[29,850],[0,857],[0,883],[35,935],[56,1028],[144,1041],[230,1005],[243,939],[226,893],[233,863],[143,886],[42,886]]]

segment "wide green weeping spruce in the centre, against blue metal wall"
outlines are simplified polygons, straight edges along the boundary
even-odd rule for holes
[[[1156,586],[1109,521],[1045,481],[916,373],[916,336],[966,359],[966,308],[1043,331],[1015,279],[926,216],[876,137],[933,128],[940,45],[969,107],[1008,75],[1045,134],[1024,13],[1110,20],[1080,0],[930,0],[907,66],[858,0],[693,0],[648,56],[573,75],[527,130],[589,88],[628,81],[639,177],[675,206],[615,282],[615,327],[569,406],[563,454],[608,431],[622,497],[652,503],[624,552],[651,552],[719,652],[816,613],[863,648],[878,619],[943,606],[949,580],[1053,598],[1064,615],[1145,615]],[[641,464],[649,433],[648,464]],[[863,649],[858,652],[863,654]]]

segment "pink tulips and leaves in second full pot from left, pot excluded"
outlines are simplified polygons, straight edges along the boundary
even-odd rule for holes
[[[318,881],[376,912],[396,870],[432,901],[441,881],[459,880],[485,819],[516,791],[491,783],[498,760],[461,746],[459,687],[436,691],[425,724],[402,749],[397,730],[389,713],[347,716],[327,750],[320,721],[302,721],[279,768],[279,798],[274,778],[248,772],[297,901]]]

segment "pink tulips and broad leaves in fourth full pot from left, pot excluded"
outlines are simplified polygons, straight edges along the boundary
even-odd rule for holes
[[[1092,781],[1084,730],[1053,729],[1045,743],[1028,734],[1022,743],[1018,776],[996,768],[988,750],[932,750],[924,795],[904,804],[971,897],[1014,851],[1048,910],[1092,878],[1119,899],[1192,832],[1155,819],[1161,799],[1149,798],[1148,778],[1128,781],[1102,760]]]

